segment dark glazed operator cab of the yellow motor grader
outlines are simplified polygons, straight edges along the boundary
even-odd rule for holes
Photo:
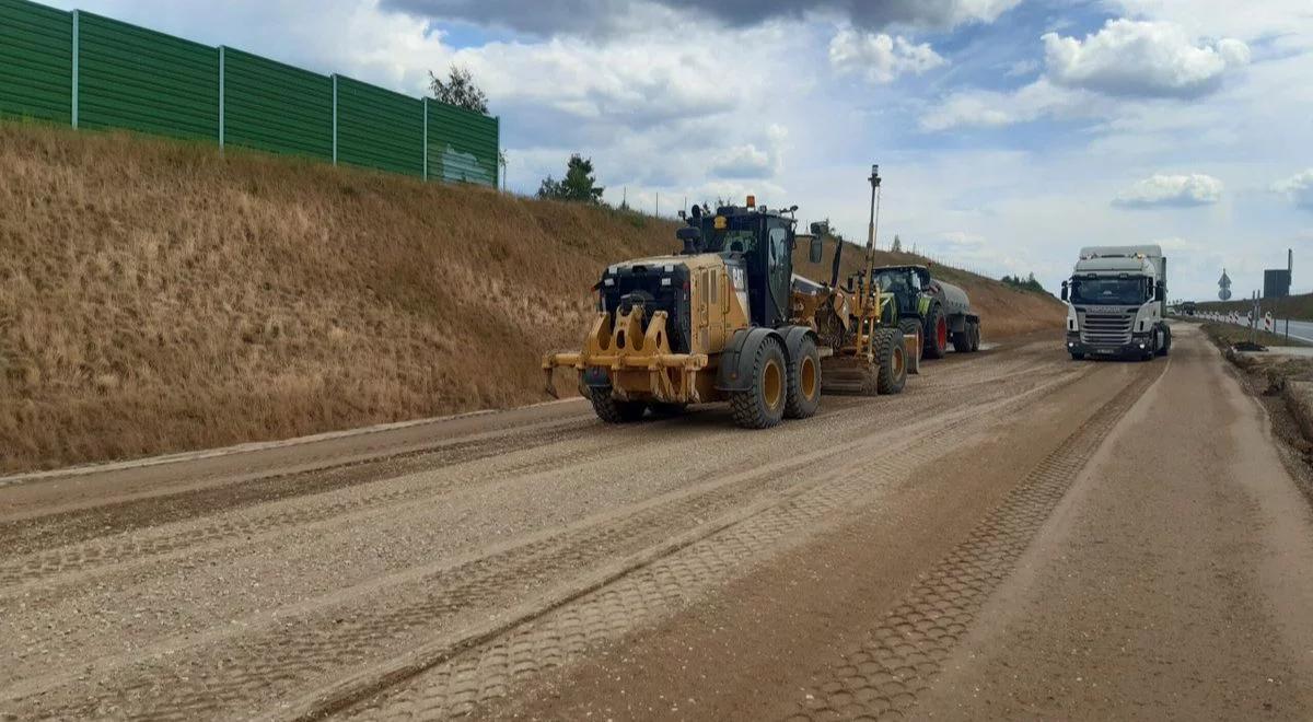
[[[784,213],[793,209],[767,210],[752,196],[746,206],[721,206],[714,214],[693,206],[688,227],[679,231],[685,255],[716,253],[725,259],[735,289],[743,291],[746,286],[754,326],[773,328],[789,322],[797,221]]]

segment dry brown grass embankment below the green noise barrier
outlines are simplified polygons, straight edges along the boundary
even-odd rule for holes
[[[0,168],[4,471],[541,400],[600,269],[676,247],[650,218],[126,134],[0,123]]]

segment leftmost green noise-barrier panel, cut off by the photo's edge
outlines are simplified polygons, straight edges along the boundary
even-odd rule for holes
[[[72,122],[72,13],[0,0],[0,116]]]

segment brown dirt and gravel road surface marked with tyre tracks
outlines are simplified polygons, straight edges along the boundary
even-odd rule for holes
[[[1309,718],[1266,429],[1183,329],[768,432],[561,403],[0,480],[0,715]]]

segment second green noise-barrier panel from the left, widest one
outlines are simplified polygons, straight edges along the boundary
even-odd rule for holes
[[[219,51],[80,13],[79,125],[219,135]]]

